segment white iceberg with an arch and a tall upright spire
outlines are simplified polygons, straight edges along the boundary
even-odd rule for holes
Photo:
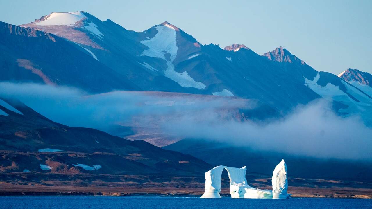
[[[246,171],[247,166],[242,168],[230,168],[223,165],[212,168],[205,172],[205,192],[201,198],[221,198],[221,175],[226,169],[230,179],[231,198],[270,198],[283,199],[288,198],[287,194],[287,166],[284,160],[276,165],[273,171],[272,184],[273,190],[262,190],[251,187],[247,184]]]

